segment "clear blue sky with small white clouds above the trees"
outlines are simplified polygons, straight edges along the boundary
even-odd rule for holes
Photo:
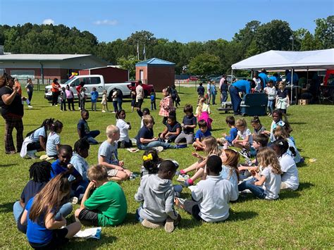
[[[0,24],[54,23],[92,32],[99,42],[148,30],[178,42],[232,39],[251,20],[285,20],[314,32],[316,18],[334,15],[333,0],[0,0]]]

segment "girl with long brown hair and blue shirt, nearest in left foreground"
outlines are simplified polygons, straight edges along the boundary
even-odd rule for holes
[[[66,226],[62,214],[56,215],[64,197],[70,193],[70,182],[63,174],[27,202],[21,224],[27,225],[27,240],[34,249],[58,249],[66,244],[81,228],[79,222]]]

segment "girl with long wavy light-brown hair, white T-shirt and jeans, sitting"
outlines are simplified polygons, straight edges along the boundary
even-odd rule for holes
[[[270,147],[266,147],[259,151],[257,158],[262,168],[261,172],[257,173],[251,170],[252,179],[240,183],[239,191],[242,192],[245,189],[249,189],[259,199],[278,199],[282,170],[280,169],[276,152]],[[266,189],[262,188],[262,186]]]

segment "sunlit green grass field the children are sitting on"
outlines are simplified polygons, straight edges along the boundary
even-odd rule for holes
[[[196,104],[194,88],[181,88],[182,104]],[[160,96],[160,94],[158,94]],[[157,100],[159,102],[159,100]],[[60,112],[58,107],[51,107],[43,98],[43,92],[35,92],[32,110],[25,110],[23,123],[25,134],[38,127],[44,118],[54,117],[63,121],[61,133],[63,144],[73,145],[78,139],[76,125],[80,119],[79,111]],[[89,104],[87,104],[87,107]],[[149,99],[144,107],[149,106]],[[111,104],[109,104],[111,108]],[[137,113],[130,113],[130,101],[124,103],[127,111],[127,121],[132,124],[130,136],[137,134],[140,118]],[[222,132],[228,132],[225,125],[225,114],[219,114],[214,106],[213,135],[218,137]],[[240,197],[231,204],[230,218],[224,223],[199,223],[190,215],[179,211],[182,222],[176,230],[167,234],[163,229],[148,230],[135,220],[135,211],[139,206],[134,195],[140,180],[126,181],[121,184],[128,201],[128,216],[123,225],[104,227],[100,240],[74,239],[68,248],[236,248],[236,247],[270,247],[270,248],[333,248],[333,106],[309,105],[291,106],[288,109],[289,120],[293,128],[297,146],[306,162],[299,168],[300,186],[297,192],[281,192],[278,201],[261,201],[251,195]],[[153,111],[156,119],[154,131],[156,135],[163,129],[158,111]],[[178,120],[182,120],[183,112],[178,108]],[[246,118],[247,122],[251,118]],[[269,127],[271,118],[262,117],[262,123]],[[89,127],[99,129],[102,134],[97,137],[99,142],[105,139],[104,130],[107,125],[115,124],[113,113],[91,112]],[[0,132],[4,133],[4,120],[0,119]],[[14,137],[15,139],[15,137]],[[34,160],[24,160],[18,154],[4,154],[4,141],[1,137],[0,159],[0,247],[6,249],[27,248],[25,235],[18,232],[13,219],[13,202],[19,199],[20,193],[28,180],[28,168]],[[99,145],[89,150],[87,161],[97,163]],[[180,163],[181,168],[196,161],[191,156],[192,149],[168,150],[161,153],[163,158],[172,158]],[[125,161],[130,170],[138,172],[142,152],[130,154],[124,149],[119,150],[119,158]],[[309,158],[316,158],[315,163],[309,163]],[[190,191],[185,190],[184,197],[190,198]]]

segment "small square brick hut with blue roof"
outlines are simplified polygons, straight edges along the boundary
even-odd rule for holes
[[[136,80],[153,85],[156,91],[174,84],[175,63],[151,58],[147,61],[136,63]]]

